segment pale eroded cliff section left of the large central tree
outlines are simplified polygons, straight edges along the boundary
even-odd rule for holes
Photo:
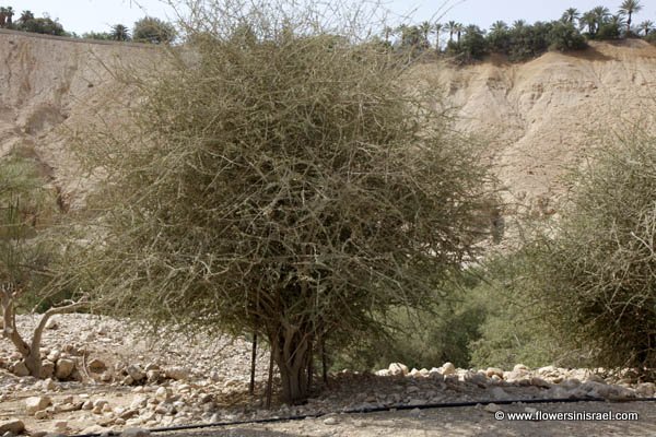
[[[0,157],[34,158],[62,206],[75,203],[87,184],[71,134],[90,122],[118,121],[130,93],[113,72],[144,68],[154,51],[0,31]]]

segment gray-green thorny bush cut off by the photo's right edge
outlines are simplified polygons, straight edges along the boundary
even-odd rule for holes
[[[656,367],[656,139],[609,137],[571,208],[534,245],[530,291],[563,339],[601,366]],[[575,346],[574,346],[575,347]]]

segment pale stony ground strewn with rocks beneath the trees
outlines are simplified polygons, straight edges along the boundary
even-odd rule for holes
[[[25,369],[13,346],[0,339],[0,436],[17,432],[31,435],[104,433],[315,414],[328,415],[286,425],[233,428],[236,434],[232,435],[373,436],[390,435],[385,429],[391,432],[398,426],[407,430],[403,435],[440,435],[425,434],[425,426],[437,421],[442,424],[440,429],[448,434],[447,425],[457,423],[458,417],[471,420],[470,430],[480,428],[493,433],[494,426],[499,426],[493,414],[502,406],[480,405],[462,413],[457,409],[445,413],[446,410],[414,406],[553,398],[602,398],[617,402],[651,398],[656,392],[654,383],[635,381],[630,374],[608,375],[555,367],[529,369],[523,365],[505,370],[471,370],[455,368],[450,363],[431,369],[408,369],[394,363],[373,375],[350,371],[333,375],[329,386],[305,405],[276,403],[273,409],[265,410],[261,394],[248,395],[250,343],[244,339],[216,339],[203,334],[190,338],[166,330],[151,335],[141,327],[90,315],[56,316],[52,320],[42,345],[46,379],[24,376]],[[23,316],[19,324],[27,334],[36,319]],[[259,354],[259,382],[266,379],[268,362],[266,353]],[[259,383],[258,393],[262,392],[262,383]],[[637,404],[647,412],[642,417],[656,422],[654,404],[610,405],[633,411],[631,405]],[[409,410],[361,418],[335,414],[399,405]],[[604,408],[607,404],[597,405]],[[531,408],[507,406],[517,411]],[[450,418],[445,421],[445,414]],[[478,418],[494,426],[477,425]],[[412,420],[422,425],[402,425]],[[385,421],[389,423],[386,425]],[[622,425],[616,423],[613,426]]]

